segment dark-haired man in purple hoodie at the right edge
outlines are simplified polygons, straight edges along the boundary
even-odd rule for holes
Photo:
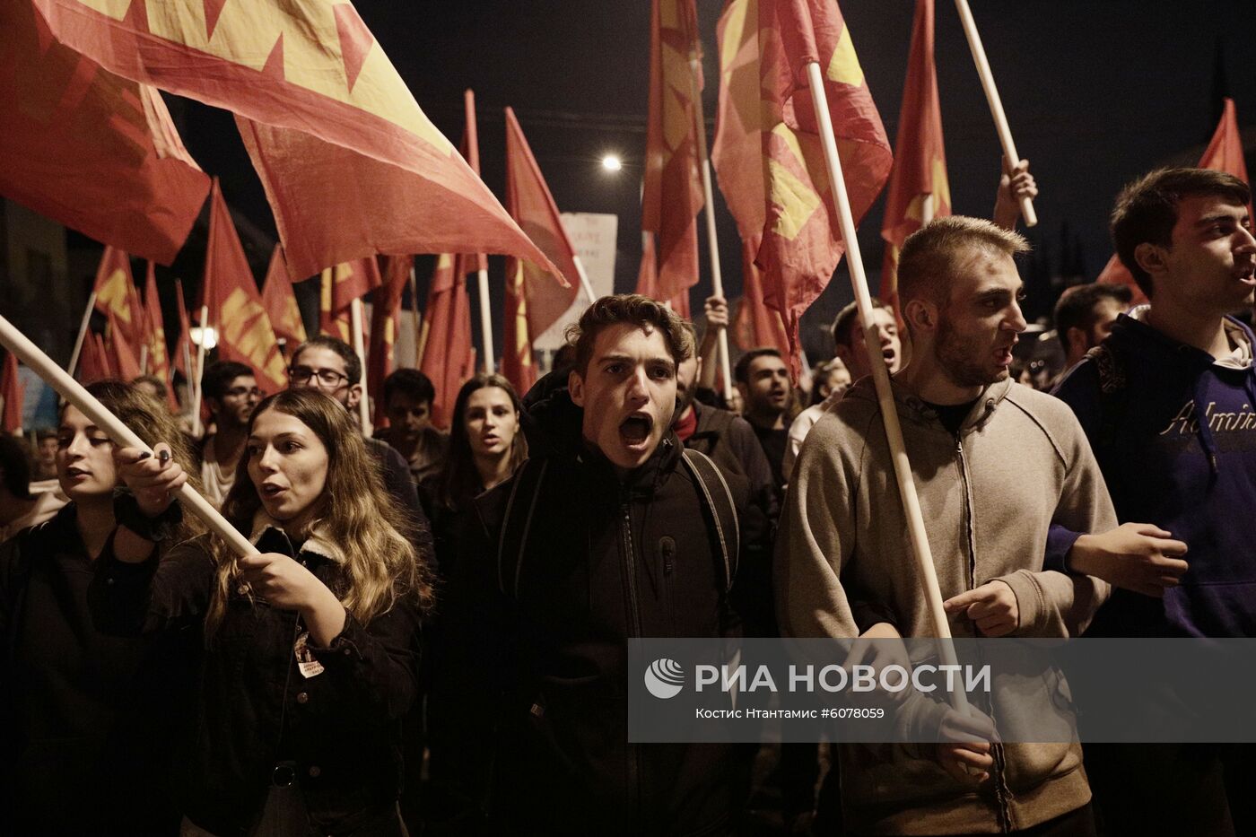
[[[1201,168],[1154,171],[1117,199],[1117,254],[1150,304],[1120,315],[1056,395],[1090,439],[1118,519],[1152,520],[1188,552],[1184,568],[1164,562],[1163,587],[1115,589],[1090,635],[1256,636],[1256,371],[1252,333],[1228,315],[1256,288],[1250,201],[1246,183]],[[1122,584],[1083,554],[1070,553],[1068,568]],[[1231,826],[1221,785],[1221,762],[1233,788],[1248,758],[1191,745],[1093,749],[1095,801],[1128,833],[1248,833],[1240,803],[1250,788],[1231,794]],[[1149,798],[1181,804],[1153,812]]]

